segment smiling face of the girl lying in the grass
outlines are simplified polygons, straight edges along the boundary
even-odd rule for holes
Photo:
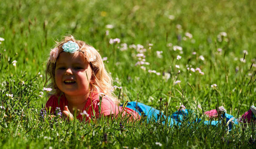
[[[92,69],[81,52],[62,52],[56,61],[55,82],[66,95],[77,96],[89,93]]]

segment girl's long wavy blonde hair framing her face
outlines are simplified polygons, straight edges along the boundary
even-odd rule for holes
[[[49,55],[47,66],[46,66],[46,81],[45,85],[48,82],[51,82],[48,87],[51,87],[53,91],[49,95],[60,95],[62,92],[58,88],[55,82],[55,67],[56,67],[56,59],[58,58],[59,53],[63,51],[63,44],[73,41],[79,46],[79,51],[83,53],[84,58],[87,62],[89,62],[93,75],[95,77],[95,83],[91,84],[90,91],[97,91],[99,93],[105,94],[108,98],[110,98],[114,103],[118,103],[118,100],[113,93],[113,85],[112,85],[112,77],[106,71],[104,63],[101,59],[99,52],[92,46],[87,45],[84,41],[75,40],[72,35],[64,36],[63,40],[60,42],[55,41],[55,47],[51,49],[51,53]]]

